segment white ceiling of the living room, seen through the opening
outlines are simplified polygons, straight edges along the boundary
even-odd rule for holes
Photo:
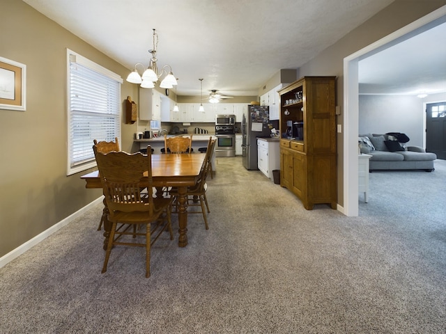
[[[445,18],[440,21],[444,22]],[[427,28],[361,60],[360,93],[417,95],[446,92],[446,23],[438,22],[438,25]]]

